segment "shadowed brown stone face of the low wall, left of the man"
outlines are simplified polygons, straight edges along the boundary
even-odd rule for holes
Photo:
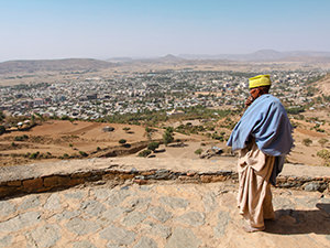
[[[92,170],[88,172],[76,172],[69,174],[50,174],[42,177],[29,177],[1,182],[0,185],[0,198],[7,196],[13,196],[16,194],[26,193],[38,193],[54,190],[68,188],[82,184],[85,182],[107,181],[114,180],[123,182],[132,180],[134,183],[146,184],[153,183],[160,180],[172,180],[180,183],[210,183],[210,182],[222,182],[229,179],[237,180],[237,173],[234,172],[215,172],[215,173],[186,173],[176,172],[170,170],[156,170],[151,169],[148,171],[132,171],[118,170],[118,169],[105,169],[105,170]]]

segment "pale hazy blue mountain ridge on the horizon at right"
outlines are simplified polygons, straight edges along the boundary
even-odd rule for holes
[[[330,52],[290,51],[278,52],[275,50],[260,50],[249,54],[218,54],[218,55],[194,55],[182,54],[179,57],[186,60],[229,60],[229,61],[297,61],[298,57],[309,58],[330,58]]]

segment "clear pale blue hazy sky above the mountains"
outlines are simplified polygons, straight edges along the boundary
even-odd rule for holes
[[[330,0],[0,0],[0,61],[330,51]]]

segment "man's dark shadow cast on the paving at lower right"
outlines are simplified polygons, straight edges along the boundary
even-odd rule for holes
[[[319,234],[330,235],[330,204],[318,203],[319,209],[279,209],[276,220],[265,220],[265,233],[278,235]]]

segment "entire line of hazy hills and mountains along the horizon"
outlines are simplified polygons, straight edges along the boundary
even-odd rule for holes
[[[290,51],[278,52],[275,50],[260,50],[250,54],[219,54],[219,55],[195,55],[183,54],[175,56],[167,54],[162,57],[131,58],[114,57],[108,61],[94,58],[66,58],[66,60],[36,60],[36,61],[8,61],[0,63],[0,74],[8,73],[35,73],[35,72],[61,72],[61,71],[98,71],[113,66],[132,63],[142,64],[189,64],[194,61],[237,61],[237,62],[306,62],[306,63],[330,63],[330,52]]]

